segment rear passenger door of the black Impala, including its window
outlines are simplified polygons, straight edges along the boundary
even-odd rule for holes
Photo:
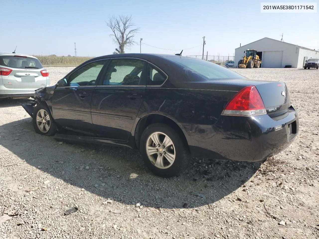
[[[92,97],[92,122],[98,137],[128,141],[145,96],[146,62],[113,59]]]

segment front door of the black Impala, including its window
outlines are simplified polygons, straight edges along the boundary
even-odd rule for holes
[[[57,125],[84,135],[94,135],[91,99],[106,60],[91,62],[67,77],[67,86],[58,86],[52,97]]]

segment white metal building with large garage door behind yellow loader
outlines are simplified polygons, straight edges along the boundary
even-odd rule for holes
[[[262,60],[261,67],[263,68],[284,68],[287,65],[291,65],[292,68],[302,68],[306,60],[319,58],[318,50],[265,37],[236,48],[235,67],[238,67],[237,63],[242,59],[244,51],[247,49],[257,50],[257,55]]]

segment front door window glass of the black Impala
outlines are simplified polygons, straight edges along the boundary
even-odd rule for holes
[[[99,73],[106,62],[92,62],[81,67],[69,77],[70,86],[96,85]]]

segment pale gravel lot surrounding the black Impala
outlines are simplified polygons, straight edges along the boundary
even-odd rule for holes
[[[48,68],[51,84],[71,69]],[[193,159],[171,179],[137,151],[36,134],[26,100],[0,99],[0,238],[319,238],[319,70],[234,71],[287,83],[298,138],[264,164]]]

